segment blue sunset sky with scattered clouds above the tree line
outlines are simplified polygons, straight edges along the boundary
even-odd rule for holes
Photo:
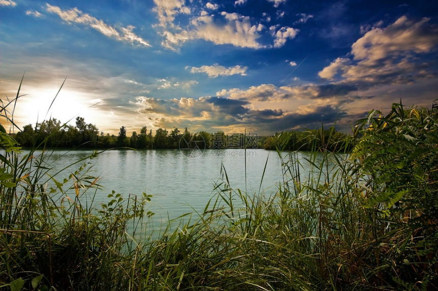
[[[24,75],[19,128],[351,132],[400,99],[430,108],[437,48],[435,1],[0,0],[0,98]]]

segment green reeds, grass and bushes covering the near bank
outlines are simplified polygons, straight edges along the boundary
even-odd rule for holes
[[[11,104],[0,108],[10,121]],[[93,202],[100,182],[87,168],[97,153],[68,177],[48,176],[50,152],[34,152],[49,137],[23,155],[2,126],[0,288],[436,289],[437,115],[401,102],[372,111],[343,144],[350,155],[329,151],[335,132],[320,130],[305,161],[284,151],[293,133],[279,133],[275,194],[233,189],[222,166],[204,211],[154,240],[147,194]]]

